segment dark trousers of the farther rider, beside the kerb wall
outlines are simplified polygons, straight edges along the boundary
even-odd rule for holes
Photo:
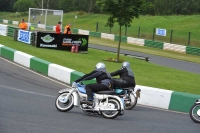
[[[128,88],[128,87],[135,87],[135,83],[128,83],[123,79],[113,79],[114,83],[114,88],[119,87],[119,88]]]

